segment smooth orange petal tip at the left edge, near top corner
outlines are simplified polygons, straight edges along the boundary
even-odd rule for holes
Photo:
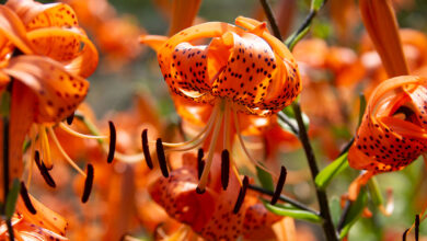
[[[32,54],[31,43],[26,38],[26,31],[20,18],[5,8],[0,5],[0,34],[1,38],[5,37],[13,43],[14,46],[25,54]],[[3,56],[2,56],[3,57]]]

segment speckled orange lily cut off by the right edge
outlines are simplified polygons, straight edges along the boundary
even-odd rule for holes
[[[373,91],[348,152],[350,167],[366,170],[350,185],[350,199],[372,175],[402,170],[426,151],[426,78],[403,76]]]

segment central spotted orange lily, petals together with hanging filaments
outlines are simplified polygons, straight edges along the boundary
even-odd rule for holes
[[[198,146],[208,150],[197,185],[200,193],[207,185],[215,153],[231,150],[235,136],[247,152],[241,131],[256,126],[251,119],[265,124],[301,91],[296,60],[288,48],[268,33],[266,24],[242,16],[235,24],[238,26],[208,22],[183,30],[169,39],[141,37],[142,43],[157,50],[164,80],[174,100],[178,100],[175,101],[178,113],[186,112],[180,113],[183,118],[191,116],[189,113],[207,117],[198,122],[205,128],[192,140],[157,141],[158,147],[170,148],[166,151],[186,151]],[[208,45],[191,44],[206,38],[211,38]],[[178,103],[194,107],[185,108]],[[200,110],[197,107],[205,108],[205,114],[195,113]],[[233,162],[231,167],[236,173]]]

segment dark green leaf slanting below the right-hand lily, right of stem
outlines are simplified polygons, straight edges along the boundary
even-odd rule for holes
[[[360,188],[359,196],[354,203],[350,204],[346,219],[343,222],[343,229],[341,230],[339,239],[343,239],[344,237],[347,236],[351,226],[358,220],[361,213],[363,211],[367,202],[368,202],[368,195],[366,188]]]

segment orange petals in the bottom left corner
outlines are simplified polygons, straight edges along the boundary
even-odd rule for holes
[[[16,203],[16,213],[12,218],[16,240],[68,240],[65,237],[67,221],[34,197],[30,196],[36,214],[31,214],[21,198]],[[0,223],[0,239],[8,240],[5,223]]]

